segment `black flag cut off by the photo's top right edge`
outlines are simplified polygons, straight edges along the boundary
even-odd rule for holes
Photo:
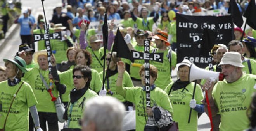
[[[251,0],[246,11],[244,12],[244,17],[247,19],[247,24],[256,30],[256,5],[255,0]]]

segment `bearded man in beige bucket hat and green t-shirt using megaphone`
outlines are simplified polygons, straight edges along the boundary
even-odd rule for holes
[[[223,55],[219,66],[225,76],[224,81],[207,80],[204,90],[208,90],[208,98],[212,116],[219,113],[220,131],[243,131],[249,128],[247,109],[251,96],[256,92],[256,76],[242,71],[241,55],[238,52],[227,52]],[[204,101],[203,101],[204,102]],[[207,109],[207,104],[205,104]]]

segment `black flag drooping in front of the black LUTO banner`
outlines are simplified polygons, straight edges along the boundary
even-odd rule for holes
[[[202,57],[209,57],[209,52],[213,48],[215,44],[215,40],[217,38],[217,33],[213,30],[204,29],[203,36],[202,36],[202,43],[200,47],[200,55]]]

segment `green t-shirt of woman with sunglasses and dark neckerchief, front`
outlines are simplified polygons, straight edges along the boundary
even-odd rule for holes
[[[68,128],[80,128],[78,124],[79,120],[83,117],[83,111],[85,110],[85,103],[93,97],[97,97],[98,94],[88,89],[85,94],[78,99],[74,104],[70,103],[67,111],[67,126]],[[70,101],[70,98],[69,98]]]

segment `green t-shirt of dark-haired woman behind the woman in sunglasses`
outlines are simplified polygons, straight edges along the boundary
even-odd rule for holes
[[[95,91],[96,93],[100,91],[102,88],[102,80],[100,79],[99,73],[91,69],[92,71],[92,80],[90,82],[90,88]],[[73,69],[69,69],[64,72],[58,73],[60,77],[61,84],[66,85],[66,92],[61,95],[63,102],[68,102],[68,97],[70,91],[74,88],[74,82],[73,82]]]

